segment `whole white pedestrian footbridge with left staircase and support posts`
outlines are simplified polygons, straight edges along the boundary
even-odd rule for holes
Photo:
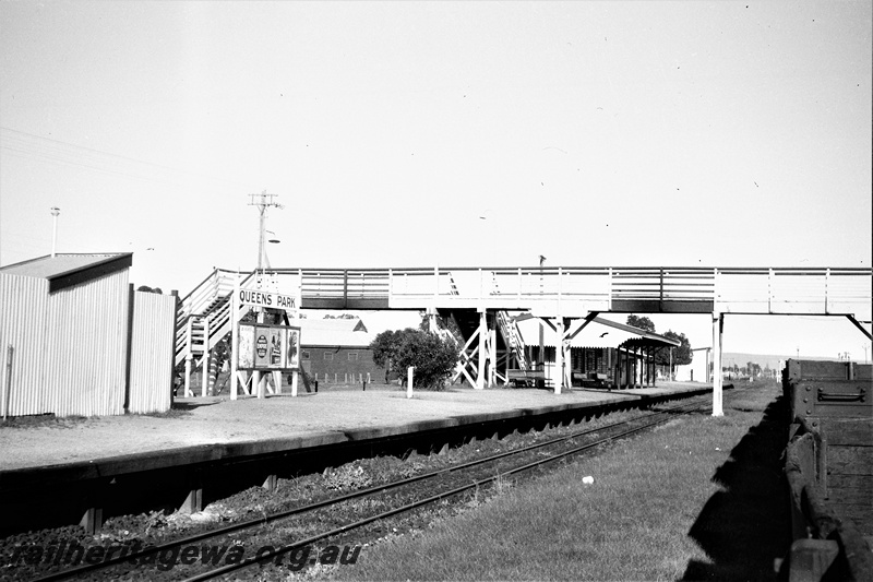
[[[846,317],[870,338],[871,281],[873,270],[852,268],[216,269],[181,301],[176,361],[205,358],[230,332],[229,298],[239,287],[296,295],[303,309],[478,312],[482,338],[511,322],[498,313],[514,311],[566,335],[598,313],[710,313],[719,369],[727,313]],[[517,353],[511,330],[501,335],[505,352]],[[488,343],[479,342],[479,361],[495,357]]]

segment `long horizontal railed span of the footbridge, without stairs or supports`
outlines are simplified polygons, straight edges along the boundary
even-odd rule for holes
[[[870,320],[873,271],[853,268],[275,269],[302,307],[852,314]],[[279,283],[285,287],[284,283]]]

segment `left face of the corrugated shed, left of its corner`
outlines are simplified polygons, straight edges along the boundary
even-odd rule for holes
[[[10,416],[51,412],[41,373],[47,304],[48,280],[0,274],[0,404]]]

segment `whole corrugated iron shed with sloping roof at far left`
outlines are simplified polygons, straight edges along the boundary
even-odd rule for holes
[[[0,269],[4,413],[124,412],[131,263],[132,253],[57,254]]]

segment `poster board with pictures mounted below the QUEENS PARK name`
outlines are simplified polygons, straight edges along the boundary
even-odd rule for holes
[[[268,323],[240,323],[237,369],[299,370],[300,328]]]

